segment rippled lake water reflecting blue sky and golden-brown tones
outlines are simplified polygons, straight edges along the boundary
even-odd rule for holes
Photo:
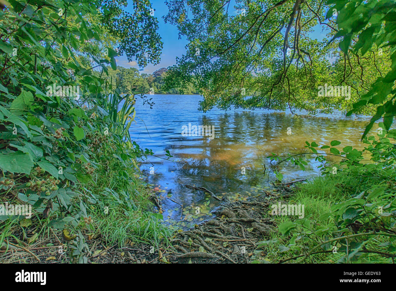
[[[151,97],[151,96],[150,96]],[[164,219],[179,226],[192,226],[207,219],[211,209],[219,201],[183,184],[203,186],[217,196],[255,195],[270,188],[268,172],[276,163],[268,156],[276,153],[286,157],[288,153],[305,152],[305,141],[328,145],[332,140],[363,148],[360,138],[367,124],[365,116],[343,114],[299,118],[289,112],[271,110],[211,110],[198,112],[198,95],[154,95],[152,109],[137,100],[137,124],[130,129],[132,140],[143,148],[149,148],[161,158],[149,157],[142,165],[149,183],[158,186],[164,198]],[[141,119],[140,119],[141,118]],[[214,126],[214,138],[210,136],[182,135],[188,124]],[[185,126],[185,127],[183,127]],[[289,133],[287,134],[287,129]],[[169,150],[173,156],[166,156]],[[335,158],[335,159],[334,159]],[[337,157],[328,156],[329,161]],[[306,171],[284,162],[278,166],[289,182],[319,173],[320,163],[314,155],[306,155]],[[154,170],[154,174],[150,174]],[[242,174],[245,167],[245,174]],[[264,171],[266,173],[264,174]],[[271,172],[269,182],[274,182]],[[238,194],[237,194],[238,195]],[[172,201],[173,200],[173,201]],[[177,203],[182,204],[182,207]],[[186,207],[189,207],[186,209]],[[197,208],[199,207],[199,208]]]

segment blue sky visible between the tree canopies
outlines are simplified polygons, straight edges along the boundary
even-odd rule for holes
[[[158,33],[162,38],[162,42],[164,43],[164,48],[162,49],[161,61],[158,65],[154,66],[152,64],[148,64],[147,67],[141,70],[141,73],[151,74],[155,70],[158,70],[162,67],[169,67],[175,65],[176,57],[181,57],[186,51],[185,46],[188,44],[185,37],[182,36],[179,39],[177,27],[171,25],[169,23],[165,23],[162,16],[168,14],[168,6],[166,6],[164,0],[153,0],[151,1],[152,8],[154,8],[154,16],[157,17],[158,23]],[[230,5],[231,6],[231,5]],[[231,9],[230,9],[231,10]],[[129,4],[126,8],[126,11],[133,13],[132,5]],[[234,11],[236,13],[236,11]],[[322,32],[322,28],[325,26],[316,25],[315,31],[310,35],[310,37],[323,39],[326,36],[326,32]],[[139,68],[135,61],[128,63],[128,60],[125,55],[122,55],[117,58],[117,65],[120,65],[125,68]],[[139,68],[141,69],[141,68]]]

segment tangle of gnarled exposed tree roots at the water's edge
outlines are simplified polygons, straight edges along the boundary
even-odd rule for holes
[[[175,260],[183,262],[179,259],[196,258],[192,262],[199,262],[202,254],[208,254],[205,258],[213,263],[249,263],[257,243],[266,240],[276,227],[268,211],[270,205],[276,204],[278,195],[267,194],[270,192],[236,201],[225,196],[213,211],[215,218],[181,232],[173,240],[175,248],[185,253],[175,254]],[[214,254],[219,257],[213,257]]]

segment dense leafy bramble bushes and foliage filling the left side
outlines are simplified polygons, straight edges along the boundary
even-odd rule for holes
[[[134,19],[122,12],[124,4],[10,0],[10,6],[0,11],[0,198],[32,205],[36,231],[63,229],[63,239],[73,250],[70,256],[79,262],[87,260],[83,230],[97,227],[89,214],[93,209],[104,213],[106,203],[116,200],[128,212],[123,211],[126,221],[129,217],[139,224],[143,222],[138,218],[146,217],[147,229],[159,230],[150,223],[156,217],[143,214],[148,204],[142,204],[145,208],[137,204],[148,201],[147,194],[136,192],[140,188],[136,184],[131,186],[138,179],[135,160],[152,151],[130,140],[133,96],[121,95],[103,78],[116,69],[116,49],[97,50],[104,45],[102,33],[119,29],[116,42],[127,34],[144,42],[121,45],[119,51],[128,49],[131,57],[149,48],[148,60],[158,58],[160,43],[153,46],[146,41],[158,38],[156,20],[151,15],[147,21],[141,19],[148,17],[149,3],[135,1],[139,11]],[[94,51],[82,54],[81,46],[88,43]],[[97,59],[98,55],[105,58]],[[93,72],[98,67],[101,72]],[[16,238],[14,232],[20,229],[15,223],[22,218],[1,218],[7,221],[2,224],[0,244],[8,236]],[[77,234],[69,235],[72,232]]]

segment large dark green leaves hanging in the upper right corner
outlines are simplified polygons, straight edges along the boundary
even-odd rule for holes
[[[382,50],[388,49],[391,70],[379,76],[361,99],[353,105],[350,115],[369,104],[377,106],[375,115],[367,125],[363,137],[373,124],[383,118],[385,129],[392,125],[396,113],[396,3],[392,0],[369,1],[328,1],[334,4],[331,9],[339,10],[337,25],[339,31],[334,36],[341,37],[339,48],[343,53],[360,53],[365,55],[373,44]],[[327,13],[327,17],[330,13]],[[357,42],[352,42],[358,36]],[[363,72],[362,72],[363,74]],[[390,97],[389,97],[390,95]]]

